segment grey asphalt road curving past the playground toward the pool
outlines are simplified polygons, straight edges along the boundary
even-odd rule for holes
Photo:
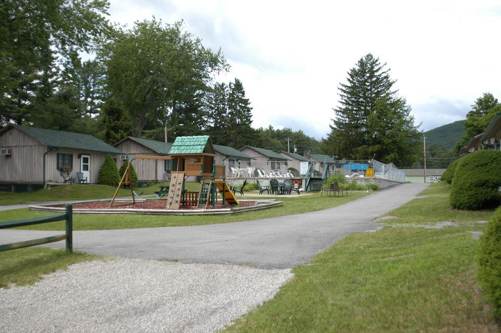
[[[374,218],[412,200],[427,186],[395,185],[338,207],[262,220],[75,231],[74,250],[127,258],[292,268],[307,262],[348,233],[381,228],[382,224],[372,222]],[[54,234],[58,232],[0,230],[0,244]],[[63,248],[64,242],[49,246]]]

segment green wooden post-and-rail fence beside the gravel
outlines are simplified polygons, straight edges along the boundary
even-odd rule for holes
[[[0,245],[0,252],[14,250],[17,248],[42,245],[66,239],[66,251],[73,252],[73,205],[66,205],[66,212],[61,215],[51,215],[45,217],[33,217],[24,220],[7,221],[0,223],[0,229],[21,227],[24,225],[42,224],[54,221],[66,220],[66,233],[64,235],[49,236],[32,239],[23,242]]]

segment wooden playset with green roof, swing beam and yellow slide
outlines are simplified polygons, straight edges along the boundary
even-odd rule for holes
[[[132,200],[135,203],[135,193],[130,175],[130,163],[136,159],[162,159],[170,160],[171,176],[169,186],[162,187],[155,192],[157,198],[167,196],[167,209],[179,209],[182,206],[196,206],[207,208],[210,204],[215,207],[217,202],[217,192],[222,196],[222,204],[239,204],[233,196],[228,184],[225,181],[225,166],[215,164],[215,151],[209,136],[188,136],[177,137],[169,156],[136,156],[129,157],[127,169],[118,184],[117,190],[109,208],[113,206],[118,190],[121,186],[129,186]],[[198,191],[187,191],[185,180],[189,176],[200,177],[200,189]],[[121,205],[121,204],[117,204]]]

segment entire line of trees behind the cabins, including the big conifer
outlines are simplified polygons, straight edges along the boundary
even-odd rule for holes
[[[331,132],[319,141],[301,130],[253,128],[243,83],[214,79],[229,71],[222,51],[204,47],[182,21],[152,18],[127,28],[111,24],[108,9],[106,0],[0,2],[1,125],[87,133],[110,144],[128,135],[162,141],[167,130],[169,141],[208,134],[234,148],[417,160],[410,107],[372,54],[340,84]],[[95,58],[84,61],[84,53]]]

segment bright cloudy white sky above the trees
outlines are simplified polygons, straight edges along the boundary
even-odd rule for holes
[[[465,119],[483,93],[501,100],[501,2],[110,0],[109,20],[152,16],[221,48],[253,107],[253,127],[290,127],[321,139],[338,87],[368,53],[397,80],[427,131]]]

